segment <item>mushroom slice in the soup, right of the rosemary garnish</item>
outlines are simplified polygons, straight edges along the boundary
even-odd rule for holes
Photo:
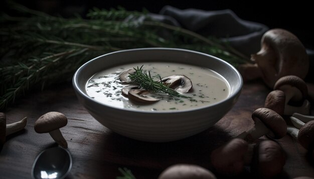
[[[160,80],[159,80],[160,81]],[[170,75],[162,78],[165,85],[173,88],[177,92],[186,93],[192,88],[192,81],[186,75]]]

